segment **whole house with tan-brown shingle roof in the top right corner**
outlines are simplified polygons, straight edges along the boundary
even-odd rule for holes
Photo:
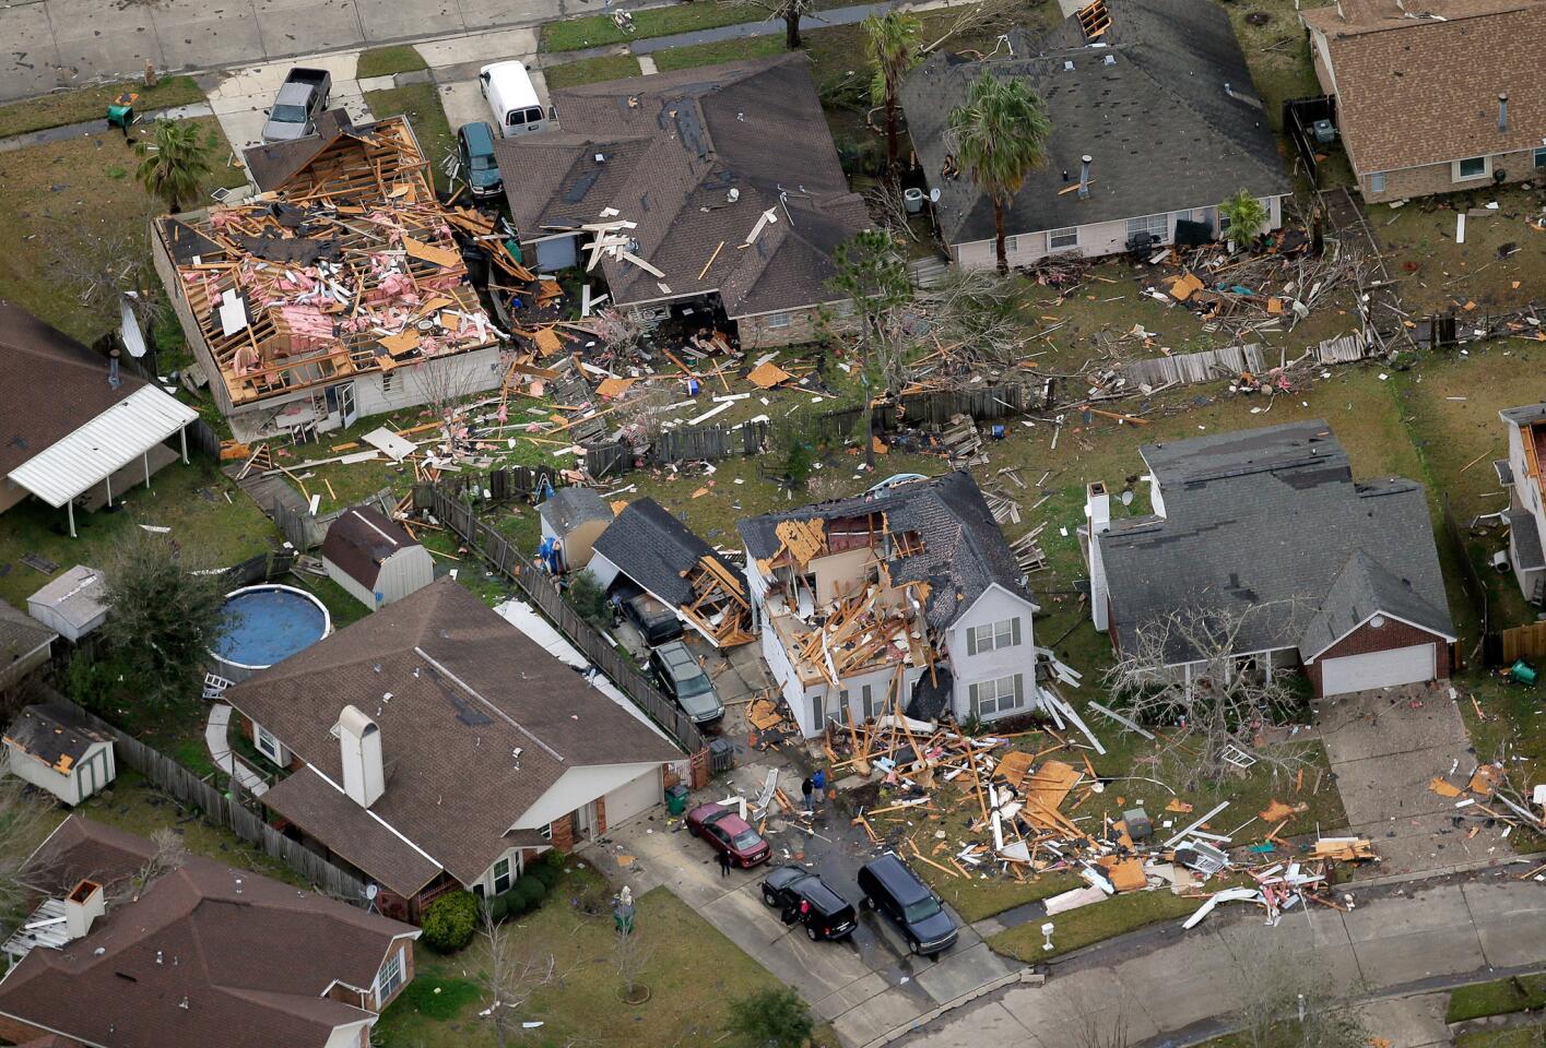
[[[1299,19],[1365,201],[1546,175],[1546,0],[1336,0]]]

